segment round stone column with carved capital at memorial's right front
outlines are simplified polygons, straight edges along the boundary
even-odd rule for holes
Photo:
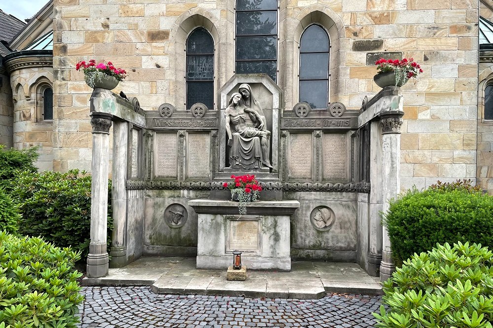
[[[382,126],[382,177],[383,177],[383,212],[389,208],[388,201],[399,194],[400,171],[400,126],[402,125],[401,111],[386,113],[380,116]],[[387,280],[395,265],[392,261],[392,250],[388,239],[387,229],[383,227],[382,262],[380,263],[380,281]]]

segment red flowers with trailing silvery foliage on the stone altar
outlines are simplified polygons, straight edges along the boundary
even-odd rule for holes
[[[231,191],[231,200],[238,199],[238,209],[240,216],[246,212],[246,203],[256,202],[259,199],[262,187],[255,180],[254,175],[246,174],[244,176],[232,175],[232,182],[224,182],[223,187]]]

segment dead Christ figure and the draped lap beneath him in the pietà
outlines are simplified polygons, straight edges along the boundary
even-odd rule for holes
[[[242,106],[241,99],[240,93],[233,93],[225,111],[228,146],[231,146],[230,167],[244,170],[261,169],[264,165],[270,167],[269,145],[267,144],[270,132],[261,129],[263,124],[260,128],[254,127],[249,115],[254,115],[258,120],[260,116],[251,108]],[[234,128],[233,132],[231,127]],[[266,156],[269,165],[265,164]]]

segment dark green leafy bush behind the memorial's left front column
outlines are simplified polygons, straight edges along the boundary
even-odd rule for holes
[[[111,199],[110,191],[109,186],[108,199]],[[91,225],[91,176],[79,170],[20,175],[12,197],[20,202],[21,234],[42,236],[48,242],[60,247],[71,246],[80,251],[84,258],[87,256]],[[108,236],[111,235],[112,222],[109,210]]]

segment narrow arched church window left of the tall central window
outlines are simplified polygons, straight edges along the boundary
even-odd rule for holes
[[[186,40],[186,109],[203,103],[214,108],[214,41],[204,28],[193,30]]]

